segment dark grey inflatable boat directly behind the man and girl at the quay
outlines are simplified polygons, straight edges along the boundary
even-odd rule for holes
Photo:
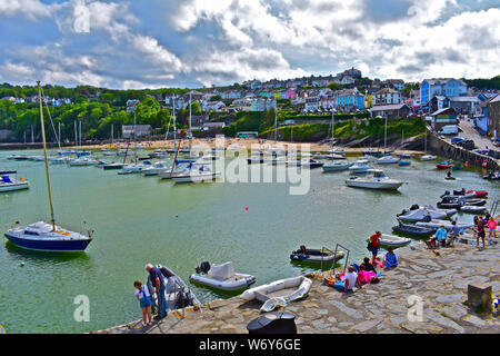
[[[200,300],[188,287],[188,285],[182,280],[181,277],[179,277],[167,266],[157,265],[156,267],[160,269],[161,274],[163,275],[163,280],[167,283],[164,291],[167,300],[167,310],[177,310],[190,306],[201,305]],[[154,309],[158,310],[159,306],[158,295],[157,293],[154,293],[154,285],[151,281],[150,276],[148,277],[147,286],[151,295]]]

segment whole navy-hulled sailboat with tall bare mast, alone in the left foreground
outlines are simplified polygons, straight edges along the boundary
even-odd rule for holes
[[[73,233],[56,225],[53,207],[52,207],[52,192],[50,188],[50,176],[49,176],[49,162],[47,159],[47,141],[46,131],[43,127],[43,108],[41,98],[40,81],[38,85],[38,97],[40,102],[40,122],[41,132],[43,139],[43,155],[46,161],[46,176],[47,176],[47,188],[49,192],[49,206],[50,206],[50,217],[51,224],[44,221],[38,221],[30,225],[16,226],[6,231],[6,237],[14,245],[33,250],[44,250],[44,251],[82,251],[92,241],[92,233],[88,231],[87,235],[79,233]]]

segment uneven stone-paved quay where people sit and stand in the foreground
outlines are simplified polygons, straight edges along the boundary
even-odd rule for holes
[[[462,241],[470,240],[466,231]],[[396,250],[399,266],[382,271],[377,285],[354,288],[350,295],[322,284],[314,275],[309,296],[279,310],[296,315],[300,334],[489,334],[500,333],[491,314],[480,315],[467,305],[468,285],[486,283],[500,294],[499,245],[478,250],[456,243],[439,255],[420,241]],[[350,261],[354,263],[354,261]],[[416,320],[414,301],[421,300]],[[194,310],[170,312],[168,317],[142,328],[140,320],[99,330],[99,334],[246,334],[259,317],[260,304],[239,297],[212,300]],[[409,318],[409,314],[411,314]],[[417,313],[418,315],[418,313]]]

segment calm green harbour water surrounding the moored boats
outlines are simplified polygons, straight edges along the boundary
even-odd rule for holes
[[[19,152],[0,152],[0,170],[17,169],[31,188],[0,194],[2,233],[14,220],[49,220],[43,162],[7,160],[12,154]],[[164,264],[188,281],[203,260],[232,260],[237,271],[254,275],[261,285],[312,270],[289,260],[302,244],[333,249],[340,243],[361,259],[372,231],[390,234],[397,212],[412,204],[434,205],[446,189],[489,190],[488,207],[500,198],[499,185],[481,179],[480,171],[453,171],[459,180],[449,181],[436,162],[413,165],[383,167],[389,177],[409,182],[399,192],[349,188],[347,171],[313,169],[311,188],[302,196],[289,195],[288,184],[173,185],[158,177],[51,165],[57,222],[80,231],[87,221],[94,240],[86,253],[58,255],[20,249],[2,237],[0,324],[7,333],[111,327],[140,317],[132,284],[146,281],[147,263]],[[190,286],[201,301],[221,297]],[[90,299],[90,322],[73,319],[78,295]]]

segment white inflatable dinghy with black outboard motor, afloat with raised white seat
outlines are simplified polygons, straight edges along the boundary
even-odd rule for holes
[[[190,281],[221,290],[240,290],[256,283],[256,277],[247,274],[234,273],[231,261],[212,265],[208,261],[197,267],[197,273],[189,277]]]

